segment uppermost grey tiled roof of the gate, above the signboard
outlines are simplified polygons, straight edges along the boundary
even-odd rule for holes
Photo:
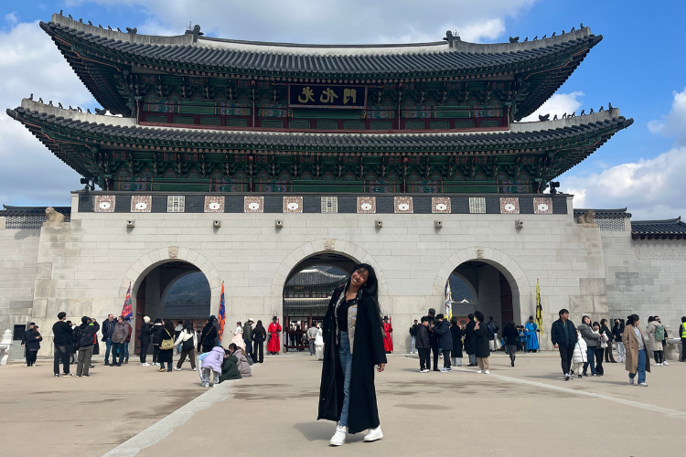
[[[156,37],[126,34],[91,27],[54,15],[41,22],[49,35],[57,34],[106,48],[134,61],[147,59],[159,66],[188,64],[225,71],[269,71],[273,74],[348,75],[354,77],[416,74],[460,69],[489,69],[551,58],[579,44],[593,47],[602,37],[588,27],[537,41],[478,45],[452,40],[409,45],[297,45],[242,41],[186,34]],[[489,71],[489,72],[490,72]]]

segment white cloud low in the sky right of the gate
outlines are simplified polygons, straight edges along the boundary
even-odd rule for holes
[[[628,207],[634,219],[686,217],[686,90],[674,92],[670,114],[648,127],[653,133],[676,136],[674,147],[600,173],[563,177],[562,190],[574,194],[574,207]]]

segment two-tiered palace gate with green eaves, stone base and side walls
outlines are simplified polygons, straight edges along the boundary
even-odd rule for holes
[[[413,319],[444,309],[451,273],[477,309],[518,324],[534,314],[538,281],[546,335],[563,307],[574,322],[636,312],[672,328],[684,314],[686,224],[625,209],[580,224],[573,196],[543,193],[633,121],[610,108],[519,122],[600,43],[588,27],[364,46],[220,39],[198,26],[145,36],[60,15],[40,27],[121,117],[57,101],[7,110],[101,190],[72,192],[55,208],[64,220],[0,212],[0,328],[35,321],[49,343],[59,311],[119,314],[130,284],[139,327],[192,271],[209,282],[211,314],[223,282],[227,323],[269,322],[283,319],[295,273],[357,262],[377,272],[400,351]]]

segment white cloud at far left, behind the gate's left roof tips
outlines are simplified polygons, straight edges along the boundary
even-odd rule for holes
[[[97,106],[58,48],[38,23],[19,23],[0,32],[0,106],[21,99],[61,101],[64,106]],[[0,204],[69,205],[79,175],[51,154],[19,122],[0,115]]]

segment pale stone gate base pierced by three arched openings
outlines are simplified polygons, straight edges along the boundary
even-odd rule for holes
[[[568,207],[566,215],[274,215],[80,213],[74,205],[70,223],[42,228],[38,252],[38,234],[34,235],[32,252],[38,253],[38,268],[34,266],[33,319],[46,329],[59,311],[72,320],[118,314],[129,282],[135,293],[157,265],[183,260],[208,278],[212,314],[218,314],[223,281],[227,322],[247,316],[269,322],[273,314],[282,316],[289,272],[324,251],[375,267],[381,309],[397,329],[397,351],[409,347],[405,329],[413,319],[430,307],[443,309],[445,281],[467,260],[487,262],[508,278],[515,319],[520,322],[534,314],[537,279],[545,329],[563,307],[577,320],[583,313],[606,316],[600,232],[574,224],[571,199]],[[127,228],[132,218],[135,227]],[[284,221],[284,228],[274,227],[275,218]],[[383,228],[374,227],[379,218]],[[436,218],[443,220],[443,228],[434,228]],[[515,228],[515,218],[524,221],[524,228]],[[221,228],[213,228],[217,219]],[[27,296],[31,292],[27,289]],[[497,294],[493,291],[494,297]],[[45,334],[47,355],[51,335]],[[547,345],[544,337],[543,347]]]

